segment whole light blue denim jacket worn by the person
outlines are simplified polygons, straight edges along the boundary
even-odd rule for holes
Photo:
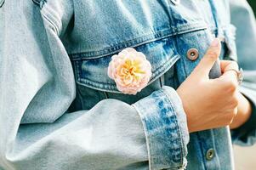
[[[0,169],[229,170],[231,137],[254,143],[256,25],[245,1],[0,0],[0,7]],[[231,133],[189,134],[175,89],[213,37],[222,39],[220,59],[238,59],[245,70],[241,92],[253,115]],[[152,65],[136,95],[120,93],[106,74],[111,56],[128,47]],[[187,58],[191,48],[198,59]],[[219,75],[216,63],[210,77]]]

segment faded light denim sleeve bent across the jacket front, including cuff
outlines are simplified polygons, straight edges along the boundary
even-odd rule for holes
[[[0,169],[185,167],[189,134],[174,88],[134,105],[105,99],[89,111],[66,112],[76,84],[59,36],[72,3],[47,2],[60,10],[57,26],[43,3],[41,10],[31,1],[0,8]]]

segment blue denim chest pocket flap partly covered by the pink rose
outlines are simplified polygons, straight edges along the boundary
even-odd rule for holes
[[[146,59],[151,63],[152,76],[149,84],[161,77],[179,59],[179,55],[174,54],[173,43],[173,38],[168,37],[135,48],[138,52],[145,54]],[[109,54],[97,59],[77,59],[73,61],[77,83],[88,88],[121,93],[117,89],[116,82],[107,75],[112,56],[113,54]]]

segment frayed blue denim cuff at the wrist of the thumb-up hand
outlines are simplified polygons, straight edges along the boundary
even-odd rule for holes
[[[148,148],[150,169],[183,169],[189,132],[185,111],[174,88],[163,87],[134,104]]]

